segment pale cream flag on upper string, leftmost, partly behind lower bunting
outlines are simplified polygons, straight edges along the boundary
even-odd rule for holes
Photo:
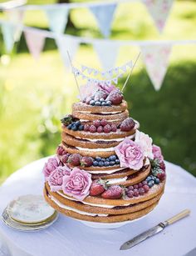
[[[16,30],[14,32],[14,41],[18,42],[22,34],[24,11],[20,9],[10,9],[6,11],[6,14],[8,20],[16,25]]]

